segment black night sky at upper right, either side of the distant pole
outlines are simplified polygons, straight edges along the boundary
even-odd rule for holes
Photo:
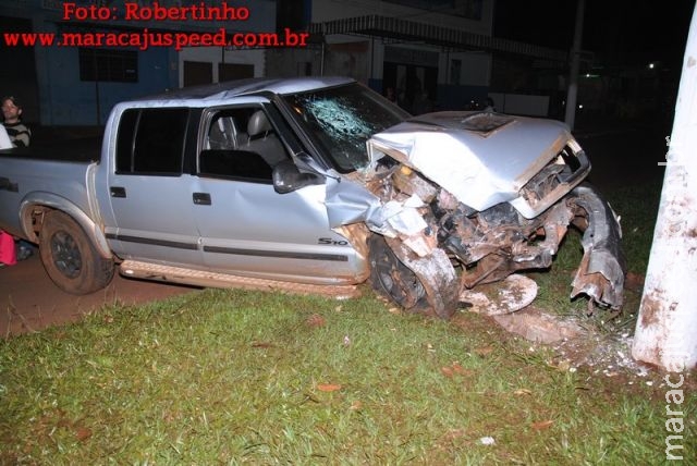
[[[604,65],[682,66],[695,0],[586,0],[583,49]],[[494,36],[571,49],[574,0],[498,0]]]

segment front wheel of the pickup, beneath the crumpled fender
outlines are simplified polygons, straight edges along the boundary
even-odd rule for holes
[[[400,261],[384,238],[374,234],[368,240],[368,246],[372,289],[407,311],[420,311],[427,307],[421,281]]]

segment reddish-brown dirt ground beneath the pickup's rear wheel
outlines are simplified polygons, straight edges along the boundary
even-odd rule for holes
[[[80,320],[105,304],[139,304],[189,293],[196,289],[130,280],[114,275],[105,290],[75,296],[61,291],[48,278],[38,254],[13,267],[0,269],[0,338],[38,331]]]

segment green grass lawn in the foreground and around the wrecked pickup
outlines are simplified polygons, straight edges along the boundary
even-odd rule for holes
[[[623,221],[638,274],[647,221]],[[576,254],[570,241],[559,270],[536,274],[538,305],[596,324],[568,302]],[[0,464],[665,462],[658,371],[570,366],[489,318],[403,315],[364,291],[335,302],[205,290],[0,341]],[[690,464],[693,378],[681,393],[684,449],[672,453]]]

